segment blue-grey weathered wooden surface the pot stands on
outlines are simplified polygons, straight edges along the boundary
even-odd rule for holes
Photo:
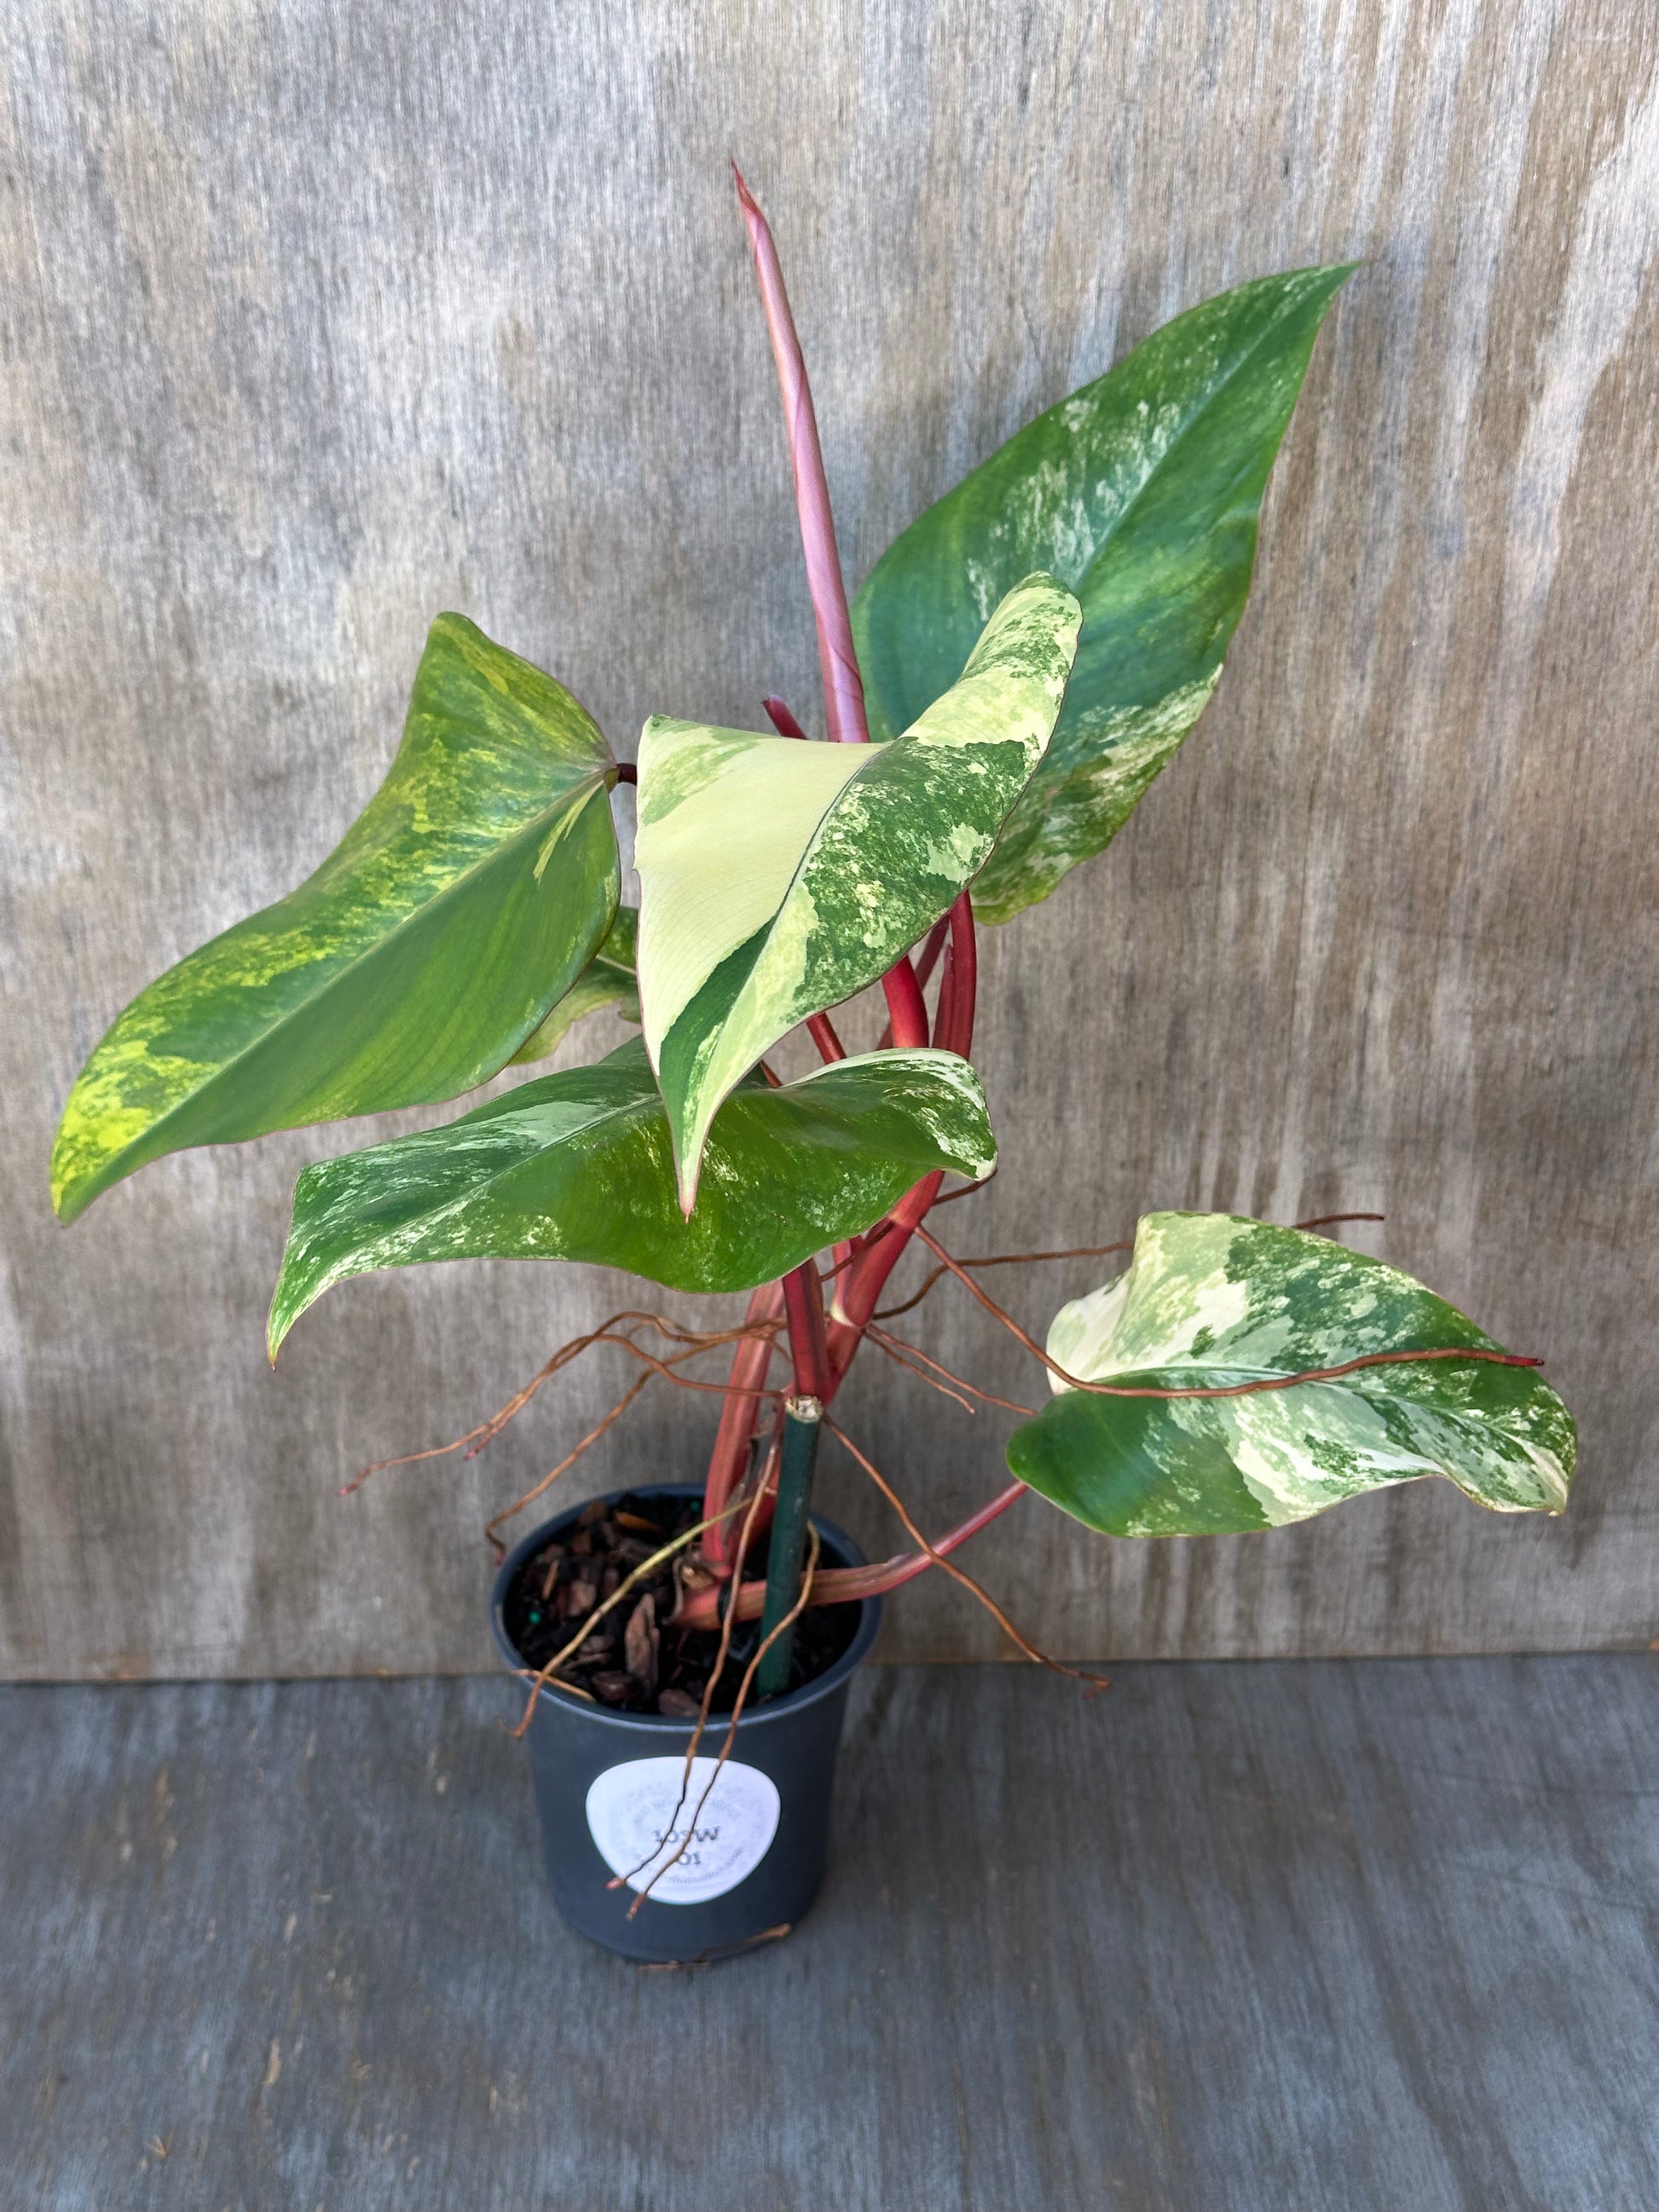
[[[818,1905],[679,1975],[507,1697],[0,1694],[9,2208],[1659,2203],[1650,1659],[883,1668]]]

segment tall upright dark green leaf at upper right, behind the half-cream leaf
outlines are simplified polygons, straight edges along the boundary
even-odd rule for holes
[[[852,628],[878,737],[945,690],[1018,575],[1048,568],[1082,599],[1064,712],[973,885],[984,920],[1104,852],[1203,712],[1250,591],[1267,471],[1352,268],[1263,276],[1166,323],[929,507],[865,580]]]

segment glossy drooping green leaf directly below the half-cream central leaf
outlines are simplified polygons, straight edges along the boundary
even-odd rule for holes
[[[491,1099],[447,1128],[305,1168],[270,1352],[330,1283],[431,1259],[580,1259],[672,1290],[752,1290],[878,1221],[936,1168],[975,1181],[995,1141],[956,1053],[869,1053],[719,1110],[681,1217],[644,1044]]]

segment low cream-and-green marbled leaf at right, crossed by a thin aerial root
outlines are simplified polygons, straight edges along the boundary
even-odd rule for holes
[[[1325,1237],[1239,1214],[1146,1214],[1128,1272],[1064,1305],[1048,1358],[1084,1383],[1192,1389],[1376,1352],[1498,1352],[1444,1298]],[[1279,1528],[1418,1475],[1493,1513],[1559,1513],[1573,1416],[1535,1367],[1433,1358],[1237,1398],[1057,1396],[1009,1467],[1108,1535]]]

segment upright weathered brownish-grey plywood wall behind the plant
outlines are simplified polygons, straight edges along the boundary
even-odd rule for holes
[[[726,177],[792,274],[854,575],[1037,407],[1265,270],[1321,341],[1221,695],[1113,854],[991,933],[1006,1166],[967,1252],[1146,1206],[1374,1206],[1548,1354],[1557,1524],[1418,1484],[1133,1546],[1029,1502],[978,1571],[1073,1655],[1646,1644],[1659,1500],[1659,24],[1628,0],[608,11],[24,0],[0,60],[4,1491],[20,1677],[484,1666],[478,1524],[622,1387],[376,1480],[635,1290],[336,1292],[272,1376],[288,1192],[361,1128],[148,1168],[73,1232],[46,1148],[159,967],[281,894],[392,754],[429,617],[646,712],[812,697],[776,394]],[[611,1037],[593,1033],[586,1048]],[[405,1124],[409,1117],[405,1117]],[[380,1124],[372,1135],[394,1126]],[[1046,1318],[1099,1270],[1048,1267]],[[1009,1281],[1009,1279],[1004,1279]],[[1033,1378],[949,1287],[922,1340]],[[865,1374],[931,1526],[1000,1433]],[[584,1486],[690,1475],[646,1394]],[[827,1502],[891,1524],[832,1469]],[[953,1588],[889,1655],[998,1650]]]

